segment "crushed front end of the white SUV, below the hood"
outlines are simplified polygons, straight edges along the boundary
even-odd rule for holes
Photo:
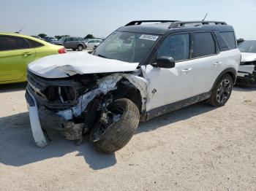
[[[83,133],[91,130],[97,120],[105,120],[106,107],[118,98],[129,96],[140,111],[146,111],[147,82],[134,74],[76,74],[47,79],[28,71],[27,79],[26,101],[39,147],[46,146],[42,133],[46,128],[59,130],[65,139],[82,140]]]

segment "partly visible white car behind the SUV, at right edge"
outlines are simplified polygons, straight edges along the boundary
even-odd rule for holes
[[[256,39],[240,42],[238,49],[242,57],[237,82],[241,85],[256,87]]]

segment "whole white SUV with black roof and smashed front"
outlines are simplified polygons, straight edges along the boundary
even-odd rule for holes
[[[233,27],[224,22],[138,20],[91,54],[34,61],[26,89],[34,140],[47,145],[42,128],[69,140],[89,132],[95,149],[110,153],[128,143],[140,120],[198,101],[223,106],[241,60],[236,46]]]

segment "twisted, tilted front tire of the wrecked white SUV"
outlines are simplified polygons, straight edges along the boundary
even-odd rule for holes
[[[94,149],[105,154],[123,148],[132,139],[140,121],[138,107],[127,98],[113,101],[108,105],[108,110],[113,113],[121,111],[120,119],[105,128],[103,132],[98,122],[90,133],[90,141]]]

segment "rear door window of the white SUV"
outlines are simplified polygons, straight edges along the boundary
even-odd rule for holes
[[[214,55],[216,53],[214,37],[209,32],[195,33],[193,44],[193,58]]]

